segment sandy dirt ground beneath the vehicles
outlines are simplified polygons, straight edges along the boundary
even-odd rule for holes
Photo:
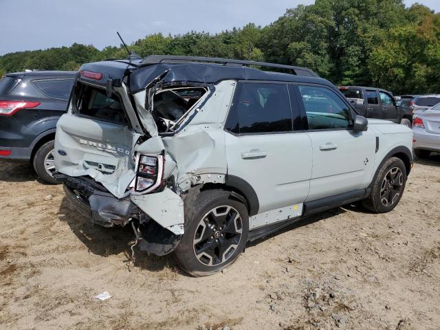
[[[338,208],[191,278],[0,163],[0,329],[440,329],[440,155],[388,214]],[[93,297],[107,291],[108,300]]]

